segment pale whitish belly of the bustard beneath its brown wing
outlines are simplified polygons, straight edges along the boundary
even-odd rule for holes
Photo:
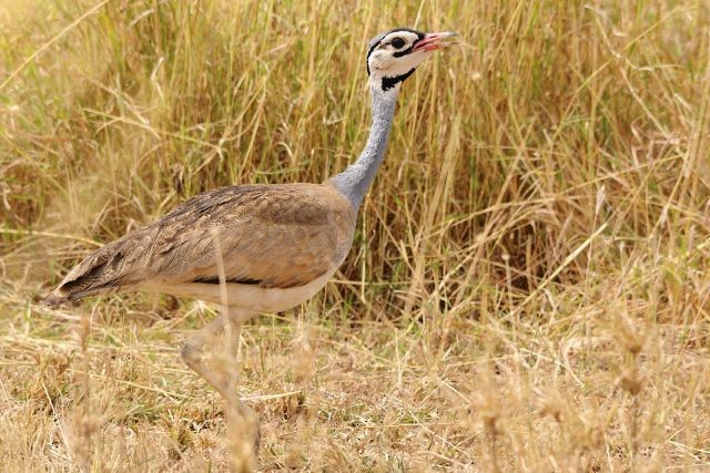
[[[317,279],[305,286],[287,289],[263,288],[257,285],[242,285],[235,282],[226,284],[226,305],[239,308],[247,312],[281,312],[305,302],[317,291],[323,289],[327,280],[333,276],[335,269],[325,273]],[[179,297],[190,297],[204,300],[205,302],[222,306],[222,289],[220,285],[183,282],[183,284],[151,284],[145,287],[148,290],[171,294]]]

